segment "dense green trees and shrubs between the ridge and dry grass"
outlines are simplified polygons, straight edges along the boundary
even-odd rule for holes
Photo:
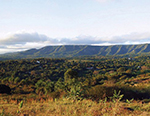
[[[0,83],[9,86],[11,94],[99,100],[121,90],[124,99],[146,99],[150,57],[0,61]]]

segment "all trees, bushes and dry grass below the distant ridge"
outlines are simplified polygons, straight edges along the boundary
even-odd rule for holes
[[[150,115],[150,57],[0,61],[1,115]]]

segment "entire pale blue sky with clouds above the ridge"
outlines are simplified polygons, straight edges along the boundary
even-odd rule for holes
[[[0,54],[150,43],[150,0],[0,0]]]

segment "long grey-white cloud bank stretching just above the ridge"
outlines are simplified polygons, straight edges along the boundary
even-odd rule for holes
[[[119,45],[143,43],[150,43],[150,33],[131,33],[114,37],[80,35],[75,38],[50,38],[37,32],[21,32],[0,39],[0,54],[41,48],[48,45]]]

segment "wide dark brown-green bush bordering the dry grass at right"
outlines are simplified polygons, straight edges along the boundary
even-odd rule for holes
[[[93,100],[99,100],[104,98],[110,98],[113,96],[114,90],[121,91],[120,94],[123,94],[123,99],[136,99],[136,100],[142,100],[142,99],[148,99],[150,97],[150,94],[148,92],[141,92],[140,90],[137,90],[133,87],[128,86],[121,86],[121,85],[115,85],[111,87],[103,86],[103,85],[96,85],[90,89],[88,89],[85,93],[85,97],[92,98]]]

